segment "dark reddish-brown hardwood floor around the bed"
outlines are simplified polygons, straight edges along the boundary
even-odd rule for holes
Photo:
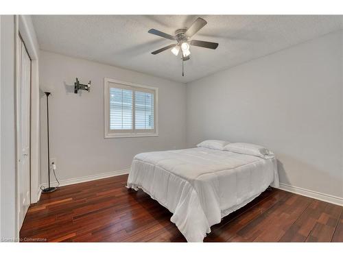
[[[29,207],[21,238],[184,242],[169,221],[171,213],[142,191],[128,190],[126,179],[127,175],[121,175],[64,186],[42,195]],[[342,242],[343,207],[272,189],[211,230],[205,242]]]

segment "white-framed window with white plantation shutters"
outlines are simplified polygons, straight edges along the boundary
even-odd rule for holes
[[[105,78],[106,138],[158,136],[158,88]]]

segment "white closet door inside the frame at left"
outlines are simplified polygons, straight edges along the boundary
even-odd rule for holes
[[[19,37],[20,38],[20,37]],[[19,88],[17,91],[18,115],[18,193],[19,228],[23,224],[30,204],[30,95],[31,60],[23,41],[19,40]]]

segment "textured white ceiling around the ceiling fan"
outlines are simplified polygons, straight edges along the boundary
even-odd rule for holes
[[[151,28],[174,35],[199,15],[34,15],[40,49],[140,71],[178,82],[265,56],[305,40],[343,29],[343,16],[200,15],[208,24],[193,39],[219,42],[216,50],[191,47],[185,62],[169,50],[152,51],[173,41],[148,34]]]

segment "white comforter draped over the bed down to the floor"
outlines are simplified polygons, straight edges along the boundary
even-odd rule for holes
[[[248,204],[269,185],[279,187],[274,156],[192,148],[138,154],[128,188],[143,189],[174,215],[189,242],[202,242],[211,225]]]

